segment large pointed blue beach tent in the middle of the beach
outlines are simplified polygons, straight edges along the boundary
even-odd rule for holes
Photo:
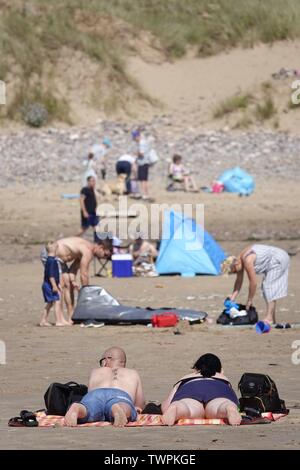
[[[218,275],[224,259],[222,248],[195,220],[178,212],[165,212],[156,261],[159,274]]]

